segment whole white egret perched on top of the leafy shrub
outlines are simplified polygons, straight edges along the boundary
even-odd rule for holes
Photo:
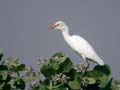
[[[96,62],[99,65],[104,65],[103,60],[97,55],[93,47],[84,38],[79,35],[69,34],[69,28],[63,21],[57,21],[50,25],[49,28],[62,32],[62,35],[68,45],[84,60],[86,68],[88,66],[87,60]]]

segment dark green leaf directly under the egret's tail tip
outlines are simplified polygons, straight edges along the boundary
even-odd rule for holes
[[[111,74],[111,70],[110,70],[110,66],[109,65],[104,65],[104,66],[95,66],[94,70],[102,72],[105,75],[110,75]]]

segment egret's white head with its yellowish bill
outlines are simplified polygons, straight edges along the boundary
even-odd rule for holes
[[[56,30],[64,30],[66,28],[66,24],[63,21],[57,21],[49,26],[49,29],[56,29]]]

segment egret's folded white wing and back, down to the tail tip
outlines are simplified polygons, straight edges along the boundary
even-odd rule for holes
[[[87,40],[78,35],[73,35],[70,40],[70,45],[75,52],[84,55],[88,60],[97,62],[99,65],[104,65],[103,60],[97,55]]]

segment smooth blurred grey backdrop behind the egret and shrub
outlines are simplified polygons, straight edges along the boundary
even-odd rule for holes
[[[40,57],[63,52],[79,62],[60,32],[48,25],[63,20],[71,34],[87,39],[120,76],[120,0],[0,0],[0,48],[38,68]]]

